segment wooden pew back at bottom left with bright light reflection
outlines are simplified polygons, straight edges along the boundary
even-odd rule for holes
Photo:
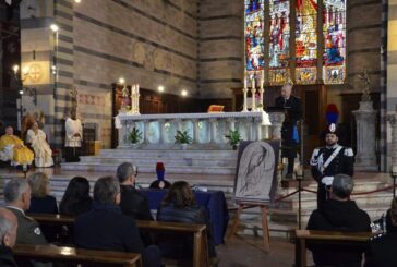
[[[141,254],[75,248],[55,245],[17,244],[13,247],[15,258],[67,262],[75,264],[108,264],[109,266],[142,267]]]

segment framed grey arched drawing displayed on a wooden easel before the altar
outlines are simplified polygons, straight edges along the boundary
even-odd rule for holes
[[[279,147],[279,141],[240,143],[234,182],[237,203],[273,202],[277,190]]]

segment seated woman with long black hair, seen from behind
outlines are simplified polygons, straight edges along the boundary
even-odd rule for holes
[[[75,177],[70,180],[67,191],[59,204],[61,215],[79,216],[89,211],[93,198],[89,196],[89,183],[84,177]]]

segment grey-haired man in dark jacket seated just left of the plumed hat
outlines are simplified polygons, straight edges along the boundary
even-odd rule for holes
[[[130,162],[123,162],[117,168],[116,173],[120,182],[121,211],[136,220],[153,220],[146,197],[134,186],[136,174],[134,167]]]

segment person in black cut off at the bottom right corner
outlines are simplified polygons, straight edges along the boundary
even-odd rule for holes
[[[397,246],[397,197],[392,201],[392,208],[387,215],[390,224],[387,232],[370,240],[365,252],[365,267],[397,266],[395,255]]]

